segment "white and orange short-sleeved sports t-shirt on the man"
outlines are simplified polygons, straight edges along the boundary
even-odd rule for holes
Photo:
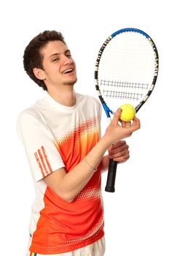
[[[49,94],[20,113],[17,132],[25,146],[36,199],[32,206],[30,251],[57,254],[92,244],[103,236],[101,168],[68,203],[47,187],[43,178],[65,167],[71,171],[100,139],[101,105],[76,94],[66,107]]]

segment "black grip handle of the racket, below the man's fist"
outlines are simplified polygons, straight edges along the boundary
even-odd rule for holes
[[[110,159],[109,161],[109,171],[107,176],[107,183],[106,183],[106,192],[114,192],[115,188],[115,180],[116,180],[116,173],[117,173],[117,162],[115,162],[113,159]]]

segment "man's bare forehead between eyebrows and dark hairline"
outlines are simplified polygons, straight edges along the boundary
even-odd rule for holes
[[[66,50],[68,50],[67,45],[65,45],[61,41],[50,41],[47,42],[47,45],[42,48],[41,53],[44,58],[51,56],[55,53],[64,53]]]

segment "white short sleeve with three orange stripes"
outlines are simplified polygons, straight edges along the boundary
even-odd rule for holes
[[[17,119],[17,134],[25,147],[35,181],[65,167],[47,124],[32,113],[21,113]]]

